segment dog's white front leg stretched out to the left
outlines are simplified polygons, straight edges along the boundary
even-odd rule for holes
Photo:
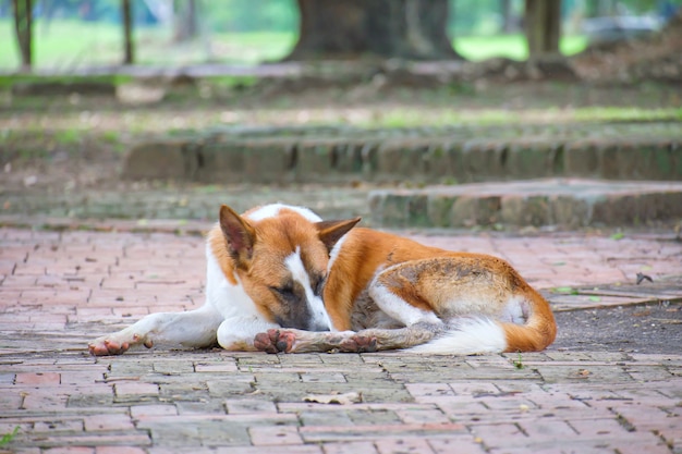
[[[150,314],[130,327],[90,342],[93,355],[121,355],[134,345],[207,347],[216,343],[222,317],[211,305],[186,312]]]

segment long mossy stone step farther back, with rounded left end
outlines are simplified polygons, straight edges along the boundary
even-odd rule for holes
[[[675,122],[395,130],[214,128],[148,137],[123,177],[202,183],[472,183],[539,177],[682,181]]]

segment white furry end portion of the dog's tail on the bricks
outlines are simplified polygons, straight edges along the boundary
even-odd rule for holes
[[[463,318],[451,331],[426,344],[409,348],[410,353],[435,355],[476,355],[499,353],[507,348],[504,330],[488,318]]]

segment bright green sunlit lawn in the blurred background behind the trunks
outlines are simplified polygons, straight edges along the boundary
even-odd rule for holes
[[[173,45],[171,33],[158,27],[135,29],[136,62],[139,64],[182,65],[218,61],[233,64],[255,64],[287,56],[296,41],[295,33],[253,32],[221,33],[210,36],[211,51],[197,39]],[[83,66],[112,65],[123,60],[123,38],[119,25],[80,21],[54,21],[46,26],[36,21],[34,28],[35,68],[69,72]],[[565,54],[583,50],[586,38],[567,36],[561,40]],[[491,57],[523,60],[527,57],[522,35],[461,36],[454,47],[468,60]],[[12,22],[0,20],[0,71],[19,66]]]

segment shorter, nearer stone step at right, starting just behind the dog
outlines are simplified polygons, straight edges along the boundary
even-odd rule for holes
[[[383,228],[650,225],[682,219],[682,183],[547,179],[374,191]]]

